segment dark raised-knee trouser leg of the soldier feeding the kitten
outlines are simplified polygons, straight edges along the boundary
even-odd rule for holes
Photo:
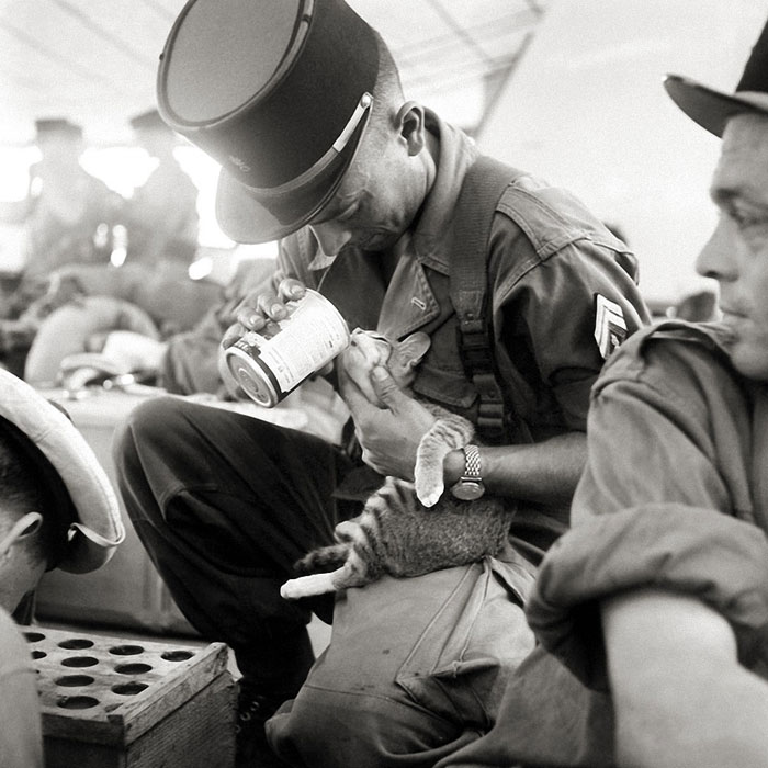
[[[349,459],[314,436],[181,397],[134,409],[113,454],[128,517],[190,623],[227,643],[257,684],[301,681],[313,660],[306,624],[312,611],[330,622],[332,596],[289,602],[280,585],[357,512],[332,497]]]

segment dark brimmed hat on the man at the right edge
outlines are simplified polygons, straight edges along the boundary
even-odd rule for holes
[[[752,49],[735,93],[723,93],[680,75],[667,75],[664,87],[673,101],[693,121],[722,136],[734,115],[768,115],[768,24]]]

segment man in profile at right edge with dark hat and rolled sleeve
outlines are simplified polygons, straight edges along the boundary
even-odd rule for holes
[[[665,87],[722,138],[697,261],[722,319],[665,321],[608,362],[572,529],[527,608],[542,651],[441,768],[768,766],[768,24],[733,93]]]

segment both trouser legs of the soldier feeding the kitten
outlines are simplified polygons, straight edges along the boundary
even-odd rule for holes
[[[342,451],[161,397],[121,426],[114,454],[128,515],[182,612],[290,700],[268,727],[289,765],[431,768],[493,726],[507,677],[533,647],[522,608],[533,568],[511,547],[289,602],[279,588],[293,563],[360,509],[337,498],[355,470]],[[334,620],[314,664],[313,611]]]

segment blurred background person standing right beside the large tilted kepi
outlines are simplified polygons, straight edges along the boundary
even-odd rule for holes
[[[157,110],[131,120],[136,143],[157,167],[126,204],[127,262],[189,264],[197,250],[197,188],[173,157],[177,135]]]

